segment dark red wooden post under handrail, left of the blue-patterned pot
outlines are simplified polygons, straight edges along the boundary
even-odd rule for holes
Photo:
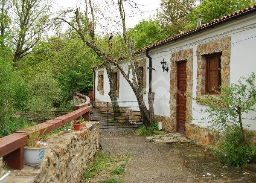
[[[24,147],[18,148],[4,156],[3,162],[6,162],[10,169],[21,170],[23,168],[23,154]]]

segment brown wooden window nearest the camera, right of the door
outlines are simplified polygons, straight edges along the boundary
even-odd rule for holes
[[[221,54],[206,57],[206,93],[218,94],[221,86]]]

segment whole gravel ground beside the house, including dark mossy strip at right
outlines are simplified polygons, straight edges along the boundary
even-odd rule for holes
[[[256,173],[222,166],[208,150],[193,143],[153,143],[134,128],[100,131],[110,154],[132,153],[125,183],[256,183]]]

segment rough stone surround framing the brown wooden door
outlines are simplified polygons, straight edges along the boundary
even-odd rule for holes
[[[186,94],[192,96],[193,89],[193,49],[172,52],[170,70],[170,127],[177,131],[177,64],[186,61]],[[186,123],[192,121],[192,101],[186,99]]]

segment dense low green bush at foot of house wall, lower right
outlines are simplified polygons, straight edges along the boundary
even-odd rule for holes
[[[256,147],[249,142],[250,134],[246,134],[245,142],[239,126],[228,127],[224,132],[221,142],[213,153],[221,160],[221,163],[229,166],[241,166],[250,162],[256,154]]]

